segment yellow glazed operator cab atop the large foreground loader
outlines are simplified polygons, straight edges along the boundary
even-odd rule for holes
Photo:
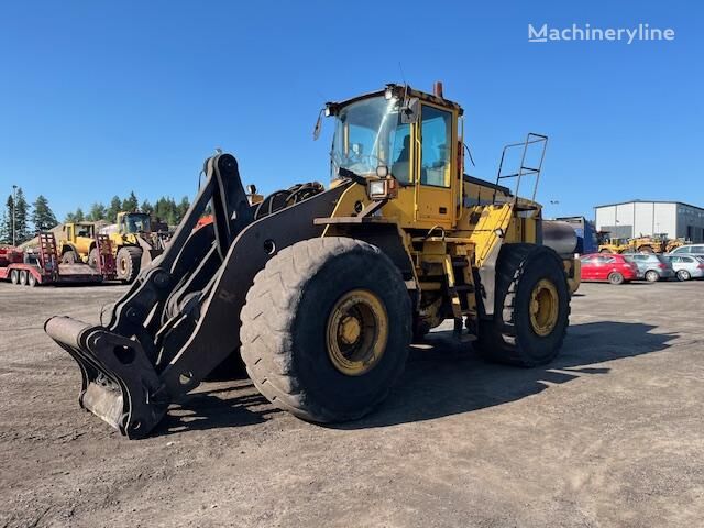
[[[385,217],[416,228],[455,224],[462,195],[462,108],[442,97],[440,84],[435,95],[386,85],[382,91],[327,103],[326,116],[336,121],[333,185],[345,169],[365,178],[391,175],[398,182],[398,197],[384,206]]]

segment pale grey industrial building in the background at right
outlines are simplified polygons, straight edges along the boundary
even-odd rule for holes
[[[597,231],[634,238],[664,233],[669,239],[704,242],[704,208],[681,201],[632,200],[596,206]]]

